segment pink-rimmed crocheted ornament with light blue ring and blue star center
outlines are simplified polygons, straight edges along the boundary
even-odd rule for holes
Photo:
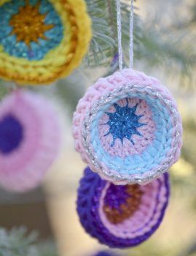
[[[143,184],[165,173],[179,159],[181,133],[168,89],[133,69],[100,78],[74,113],[76,150],[114,184]]]

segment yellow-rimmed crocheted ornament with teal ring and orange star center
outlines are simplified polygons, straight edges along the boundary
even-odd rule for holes
[[[41,84],[69,75],[91,38],[83,0],[0,0],[0,77]]]

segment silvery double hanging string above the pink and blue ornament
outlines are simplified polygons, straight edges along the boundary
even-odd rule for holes
[[[134,24],[134,0],[130,0],[130,68],[133,68],[133,24]],[[122,20],[120,0],[117,0],[117,33],[118,33],[118,52],[119,52],[119,71],[122,71]]]

